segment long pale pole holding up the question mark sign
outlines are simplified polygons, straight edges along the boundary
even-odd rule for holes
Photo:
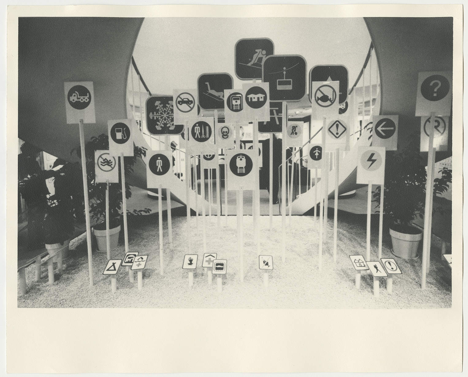
[[[432,154],[434,153],[434,124],[435,124],[435,112],[431,112],[431,126],[429,126],[429,148],[427,154],[427,179],[426,179],[426,201],[424,205],[424,233],[423,233],[423,266],[422,266],[422,277],[421,277],[421,289],[426,289],[426,277],[427,277],[427,254],[428,254],[428,241],[429,233],[431,229],[429,228],[429,219],[431,213],[429,212],[431,207],[431,195],[432,195],[432,167],[431,162],[433,159]]]

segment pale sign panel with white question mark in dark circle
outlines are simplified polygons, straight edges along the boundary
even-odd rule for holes
[[[452,113],[452,71],[419,72],[416,116],[450,116]]]

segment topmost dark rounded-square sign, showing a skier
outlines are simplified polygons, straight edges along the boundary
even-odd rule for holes
[[[235,75],[241,80],[262,79],[262,63],[273,55],[274,44],[270,38],[239,39],[234,48]]]

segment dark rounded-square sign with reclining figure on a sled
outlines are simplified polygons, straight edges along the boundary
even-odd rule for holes
[[[197,86],[198,104],[202,109],[224,109],[224,90],[233,89],[233,78],[228,73],[201,74]]]

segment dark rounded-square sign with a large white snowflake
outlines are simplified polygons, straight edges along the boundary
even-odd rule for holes
[[[182,133],[183,125],[174,124],[172,96],[151,96],[146,100],[146,128],[152,135]]]

